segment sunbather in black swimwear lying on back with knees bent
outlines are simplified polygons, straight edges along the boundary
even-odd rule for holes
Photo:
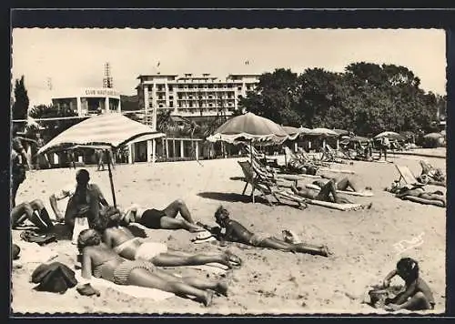
[[[178,214],[183,219],[177,219]],[[181,199],[173,201],[163,210],[132,205],[126,208],[122,218],[122,224],[128,225],[129,223],[138,223],[152,229],[187,229],[189,232],[204,230],[195,224],[187,204]]]

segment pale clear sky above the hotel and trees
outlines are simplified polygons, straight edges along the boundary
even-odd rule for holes
[[[438,29],[49,29],[13,30],[12,76],[25,76],[31,105],[56,92],[103,86],[135,95],[139,75],[342,72],[353,62],[406,66],[426,91],[445,95],[445,33]],[[245,65],[248,61],[249,65]],[[159,66],[158,66],[159,63]]]

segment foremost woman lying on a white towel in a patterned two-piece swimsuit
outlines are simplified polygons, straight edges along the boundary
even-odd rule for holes
[[[83,230],[77,239],[77,248],[82,254],[82,277],[104,278],[117,285],[139,286],[172,292],[181,297],[196,297],[209,306],[213,292],[227,296],[227,284],[194,277],[178,278],[157,269],[151,262],[131,261],[121,258],[101,242],[95,229]]]

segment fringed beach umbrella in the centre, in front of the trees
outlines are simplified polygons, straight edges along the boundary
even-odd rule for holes
[[[288,133],[274,121],[247,113],[228,119],[226,123],[217,128],[213,135],[207,137],[207,140],[210,142],[224,141],[231,144],[249,143],[252,163],[253,150],[251,147],[253,143],[277,145],[288,138]]]

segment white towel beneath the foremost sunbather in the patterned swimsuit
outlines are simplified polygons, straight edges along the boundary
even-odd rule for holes
[[[123,286],[123,285],[116,285],[114,282],[105,280],[103,278],[95,278],[92,277],[89,280],[86,278],[82,278],[81,271],[76,271],[76,279],[79,282],[89,283],[94,288],[110,288],[114,289],[118,292],[122,292],[126,295],[132,296],[137,299],[152,299],[155,301],[161,301],[165,299],[169,299],[174,296],[173,293],[153,289],[153,288],[144,288],[144,287],[137,287],[137,286]]]

